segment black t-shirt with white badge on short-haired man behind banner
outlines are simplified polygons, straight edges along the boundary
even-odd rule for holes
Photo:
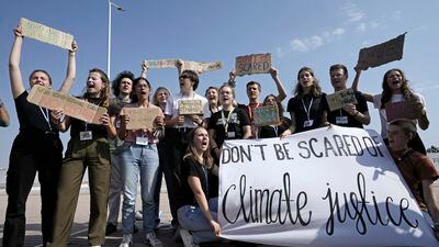
[[[361,92],[359,92],[359,91],[356,91],[354,94],[356,94],[356,99],[357,99],[357,102],[358,102],[356,104],[357,111],[359,111],[361,113],[364,113],[364,112],[369,111],[368,110],[368,102],[365,101],[363,94]],[[347,116],[348,117],[348,122],[344,123],[344,121],[341,121],[341,122],[339,121],[337,123],[337,117],[340,117],[340,116],[341,117],[342,116]],[[345,126],[345,127],[361,127],[361,128],[363,127],[362,123],[358,122],[356,120],[356,117],[353,117],[351,114],[349,114],[344,109],[331,111],[331,112],[328,111],[328,122],[331,123],[331,124],[337,124],[339,126]]]

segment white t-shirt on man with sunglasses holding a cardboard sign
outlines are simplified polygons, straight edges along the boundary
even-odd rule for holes
[[[179,105],[181,100],[201,100],[203,105],[203,119],[211,117],[211,111],[209,110],[207,99],[193,92],[192,97],[183,96],[181,92],[177,96],[169,96],[166,103],[165,115],[170,115],[172,119],[179,115]],[[182,125],[173,125],[172,127],[196,127],[198,125],[190,119],[184,117],[184,123]]]

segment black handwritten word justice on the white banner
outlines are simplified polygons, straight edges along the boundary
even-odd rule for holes
[[[403,223],[407,224],[413,228],[417,228],[418,221],[412,222],[405,211],[409,207],[409,202],[406,198],[402,198],[398,203],[397,210],[391,210],[394,206],[393,198],[386,197],[385,210],[384,206],[379,206],[376,198],[373,191],[370,191],[370,197],[367,195],[364,176],[359,172],[357,175],[357,192],[340,193],[333,191],[327,183],[328,189],[326,195],[323,198],[324,201],[329,203],[329,217],[326,222],[326,234],[334,234],[335,222],[344,223],[348,220],[354,220],[357,232],[361,235],[365,235],[368,232],[368,225],[382,225],[386,226],[392,223],[395,226],[399,226]]]

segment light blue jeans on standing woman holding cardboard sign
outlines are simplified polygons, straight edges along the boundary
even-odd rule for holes
[[[156,220],[154,191],[157,183],[158,151],[155,144],[137,145],[125,143],[122,153],[122,176],[124,199],[122,205],[122,227],[124,234],[133,234],[137,195],[137,178],[140,177],[142,211],[144,231],[154,231]]]

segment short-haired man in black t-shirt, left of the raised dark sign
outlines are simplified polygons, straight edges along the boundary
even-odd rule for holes
[[[334,91],[346,90],[348,69],[345,65],[333,65],[329,68],[330,83]],[[370,123],[368,103],[361,92],[356,91],[357,104],[349,104],[340,110],[328,112],[328,122],[346,127],[363,127]]]

